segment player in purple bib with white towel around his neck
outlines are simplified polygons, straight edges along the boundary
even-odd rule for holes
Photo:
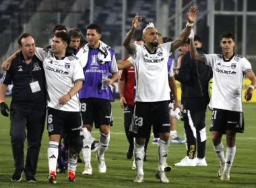
[[[86,38],[88,44],[83,46],[77,56],[84,67],[86,81],[79,91],[81,112],[83,118],[83,134],[85,169],[84,175],[92,174],[91,166],[91,132],[92,125],[100,129],[100,146],[96,154],[99,173],[106,173],[104,152],[108,148],[110,140],[110,89],[109,86],[117,81],[119,73],[115,52],[109,46],[100,41],[101,28],[91,23],[87,28]],[[110,73],[112,76],[110,77]]]

